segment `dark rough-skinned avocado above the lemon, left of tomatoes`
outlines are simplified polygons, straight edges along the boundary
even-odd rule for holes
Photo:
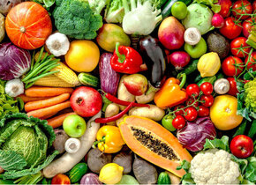
[[[210,52],[216,52],[220,58],[225,58],[230,52],[230,42],[219,33],[207,35],[207,47]]]

